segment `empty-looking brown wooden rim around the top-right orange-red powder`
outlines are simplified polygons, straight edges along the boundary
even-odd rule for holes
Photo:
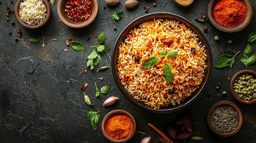
[[[218,29],[220,31],[223,31],[223,32],[234,33],[234,32],[241,31],[241,30],[245,29],[245,27],[248,26],[248,24],[252,20],[252,13],[253,13],[252,5],[249,2],[249,0],[240,0],[241,2],[243,2],[243,4],[245,4],[245,7],[247,8],[247,11],[246,11],[247,15],[246,15],[245,20],[241,24],[236,26],[236,27],[225,27],[225,26],[222,26],[222,25],[218,24],[218,22],[214,19],[214,17],[213,17],[213,8],[214,8],[215,4],[218,1],[219,0],[211,0],[209,5],[208,5],[208,10],[207,10],[209,20],[210,20],[211,24],[213,24],[213,26],[216,29]]]

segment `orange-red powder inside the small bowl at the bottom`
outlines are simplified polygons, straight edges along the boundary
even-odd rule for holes
[[[115,140],[126,139],[132,133],[132,128],[132,120],[125,114],[114,114],[105,124],[108,136]]]

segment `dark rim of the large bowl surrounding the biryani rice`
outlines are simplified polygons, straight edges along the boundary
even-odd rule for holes
[[[119,46],[120,46],[121,42],[124,42],[126,35],[128,35],[132,29],[137,28],[143,22],[148,22],[150,20],[153,20],[154,18],[155,19],[163,19],[163,20],[166,20],[166,19],[167,20],[176,20],[176,21],[179,21],[180,23],[183,23],[184,25],[186,25],[187,28],[189,28],[190,30],[195,32],[195,34],[198,35],[197,37],[202,42],[202,45],[205,45],[205,50],[206,50],[206,54],[207,54],[207,60],[206,60],[207,68],[205,69],[204,79],[202,80],[202,84],[200,84],[200,87],[197,90],[195,90],[195,92],[193,92],[193,94],[191,94],[191,96],[186,97],[186,99],[184,99],[184,101],[182,101],[180,104],[176,104],[175,106],[160,107],[158,110],[154,110],[153,107],[150,107],[150,106],[144,104],[143,102],[140,102],[140,101],[137,101],[136,99],[134,99],[122,85],[121,80],[119,79],[119,75],[118,75],[119,71],[117,69],[117,57],[119,55]],[[114,80],[117,84],[117,87],[129,101],[134,103],[136,106],[143,108],[145,110],[148,110],[150,112],[155,112],[155,113],[174,112],[174,111],[180,110],[180,109],[188,106],[193,101],[195,101],[200,96],[200,94],[203,92],[204,88],[207,86],[207,83],[210,78],[211,70],[212,70],[211,48],[209,46],[209,43],[207,42],[206,37],[202,33],[202,31],[200,31],[200,29],[197,26],[195,26],[195,24],[190,22],[189,20],[186,20],[185,18],[183,18],[179,15],[173,14],[173,13],[164,13],[164,12],[150,13],[150,14],[141,16],[141,17],[133,20],[121,32],[121,34],[117,38],[117,40],[115,42],[115,46],[113,48],[112,57],[111,57],[111,67],[112,67],[112,74],[113,74]]]

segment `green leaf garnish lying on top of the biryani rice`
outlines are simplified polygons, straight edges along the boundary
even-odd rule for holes
[[[170,53],[166,53],[166,51],[161,51],[160,56],[161,57],[167,57],[167,58],[173,58],[173,57],[177,57],[178,53],[176,51],[170,52]],[[146,61],[143,63],[141,68],[150,68],[155,66],[158,63],[158,57],[149,57],[148,59],[146,59]],[[166,82],[168,84],[171,83],[171,81],[173,80],[173,72],[171,70],[170,65],[168,64],[168,62],[166,62],[166,64],[164,65],[164,79],[166,80]]]

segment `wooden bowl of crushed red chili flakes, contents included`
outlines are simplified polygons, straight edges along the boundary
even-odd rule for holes
[[[58,16],[72,28],[84,28],[94,22],[98,14],[97,0],[59,0]]]

